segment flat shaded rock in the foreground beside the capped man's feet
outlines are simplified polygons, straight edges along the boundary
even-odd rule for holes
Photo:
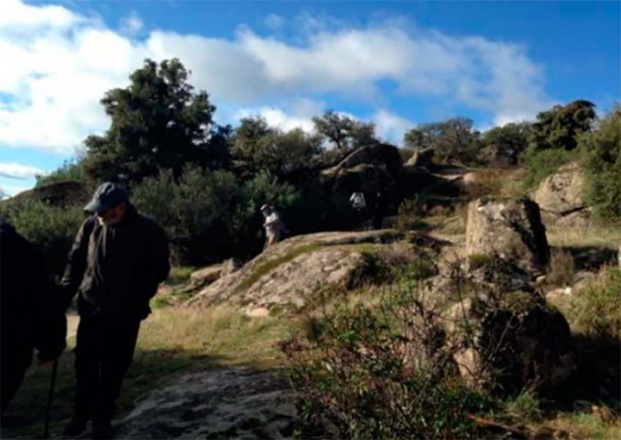
[[[273,372],[188,374],[150,392],[117,425],[119,439],[283,439],[293,434],[295,395]]]

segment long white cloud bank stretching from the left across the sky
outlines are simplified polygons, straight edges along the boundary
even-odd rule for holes
[[[384,107],[382,80],[413,99],[437,97],[497,121],[534,115],[549,102],[544,72],[524,47],[412,30],[398,20],[353,27],[306,16],[294,45],[244,26],[233,39],[154,30],[135,40],[63,6],[5,0],[2,9],[0,59],[11,68],[0,70],[0,144],[7,146],[71,153],[108,126],[99,99],[126,86],[146,57],[179,57],[193,72],[190,82],[217,106],[262,108],[284,126],[307,127],[310,116],[270,103],[337,93]],[[139,30],[131,17],[127,30]],[[382,126],[397,135],[403,122],[384,117]]]

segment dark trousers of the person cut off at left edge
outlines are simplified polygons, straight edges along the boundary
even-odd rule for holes
[[[34,347],[28,341],[4,335],[0,344],[0,414],[4,414],[32,363]]]

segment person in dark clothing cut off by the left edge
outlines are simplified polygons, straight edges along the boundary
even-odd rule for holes
[[[67,319],[43,256],[8,222],[0,223],[0,414],[5,414],[38,350],[47,365],[65,350]]]

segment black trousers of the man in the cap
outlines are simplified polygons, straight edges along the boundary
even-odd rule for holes
[[[75,347],[75,412],[94,421],[111,421],[115,401],[132,364],[139,320],[81,316]]]

